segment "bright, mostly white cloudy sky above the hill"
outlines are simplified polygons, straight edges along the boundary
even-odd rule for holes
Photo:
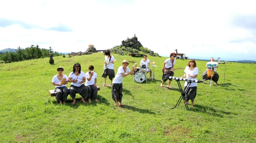
[[[58,52],[121,45],[136,34],[169,56],[256,60],[256,9],[243,0],[8,0],[0,5],[0,49]],[[149,58],[149,57],[148,57]]]

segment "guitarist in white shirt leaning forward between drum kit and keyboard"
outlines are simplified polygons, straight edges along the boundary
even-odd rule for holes
[[[170,58],[166,59],[165,62],[163,62],[163,76],[162,76],[162,83],[161,83],[161,87],[163,87],[163,83],[165,83],[165,81],[167,81],[169,79],[169,76],[173,76],[175,69],[174,69],[174,64],[176,63],[175,60],[176,57],[176,53],[172,52],[170,54]],[[170,87],[172,80],[169,79],[168,85],[167,87]]]

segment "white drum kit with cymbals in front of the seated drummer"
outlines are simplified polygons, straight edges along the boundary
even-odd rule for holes
[[[154,74],[154,67],[156,67],[156,65],[154,65],[154,63],[156,62],[150,62],[152,65],[152,77],[150,80],[154,80],[156,78],[155,74]],[[137,83],[142,83],[143,81],[146,80],[146,82],[148,82],[148,79],[147,78],[147,73],[150,72],[150,69],[148,67],[146,67],[146,65],[140,65],[140,68],[139,67],[136,67],[137,68],[137,71],[135,72],[134,74],[134,80],[137,82]]]

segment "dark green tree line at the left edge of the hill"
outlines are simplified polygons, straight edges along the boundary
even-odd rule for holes
[[[38,58],[46,58],[50,57],[49,53],[54,53],[53,56],[62,55],[59,52],[53,52],[53,49],[49,47],[49,49],[41,49],[38,45],[31,45],[30,47],[26,47],[25,49],[18,47],[15,49],[16,52],[6,52],[0,53],[0,60],[5,63],[11,62],[20,62],[24,60],[38,59]]]

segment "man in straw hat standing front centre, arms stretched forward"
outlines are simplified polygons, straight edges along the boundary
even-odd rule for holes
[[[129,62],[127,60],[124,60],[122,62],[122,66],[118,68],[117,75],[113,80],[112,99],[115,101],[118,107],[124,106],[124,104],[122,104],[122,81],[124,77],[128,76],[129,74],[133,75],[133,73],[137,71],[136,68],[130,71],[129,67],[127,67],[128,65],[129,65]]]

